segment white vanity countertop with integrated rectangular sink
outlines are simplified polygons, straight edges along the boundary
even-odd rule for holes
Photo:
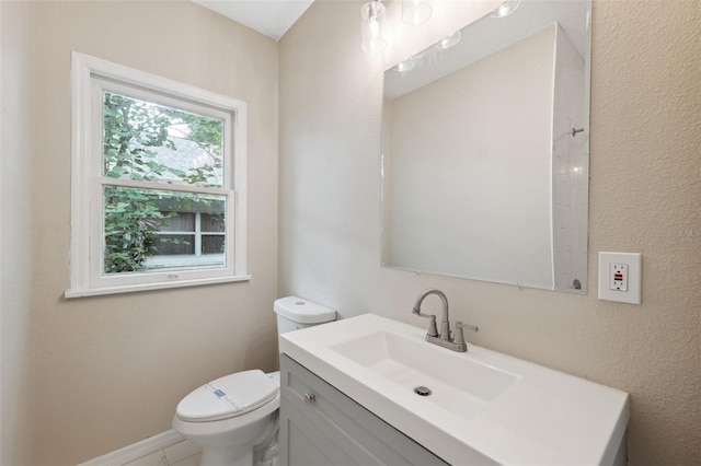
[[[365,314],[280,335],[279,349],[453,465],[611,465],[624,451],[628,394],[425,334]]]

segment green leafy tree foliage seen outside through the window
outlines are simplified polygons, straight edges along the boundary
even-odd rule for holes
[[[164,213],[162,205],[208,203],[197,194],[169,193],[168,185],[222,187],[223,123],[105,92],[103,127],[104,176],[163,188],[104,188],[104,272],[145,270],[157,248],[157,232],[177,215],[177,207]],[[177,152],[176,139],[196,143],[206,160],[188,164],[188,154]]]

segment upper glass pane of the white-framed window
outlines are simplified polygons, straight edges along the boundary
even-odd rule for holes
[[[223,187],[223,120],[103,92],[104,176]]]

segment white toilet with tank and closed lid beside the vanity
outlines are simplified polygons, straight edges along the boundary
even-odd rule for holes
[[[275,301],[277,333],[334,321],[336,312],[297,296]],[[277,463],[279,372],[237,372],[211,381],[180,401],[173,430],[202,446],[200,466]]]

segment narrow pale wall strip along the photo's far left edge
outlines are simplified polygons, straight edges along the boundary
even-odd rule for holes
[[[32,452],[32,14],[0,2],[0,464]]]

